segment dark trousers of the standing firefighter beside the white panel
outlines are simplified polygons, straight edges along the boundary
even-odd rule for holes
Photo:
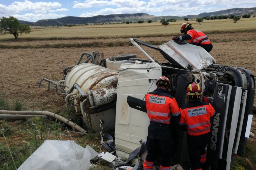
[[[154,162],[156,155],[161,155],[161,166],[171,165],[173,154],[173,139],[170,125],[151,124],[148,127],[147,136],[147,156],[148,162]]]

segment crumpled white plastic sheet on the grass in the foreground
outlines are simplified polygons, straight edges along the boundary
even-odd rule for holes
[[[97,155],[88,145],[83,148],[73,141],[45,140],[18,170],[88,170]]]

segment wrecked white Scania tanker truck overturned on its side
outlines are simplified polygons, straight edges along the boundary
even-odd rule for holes
[[[229,169],[232,153],[244,155],[247,125],[251,122],[254,102],[254,75],[245,68],[216,64],[215,59],[199,46],[184,41],[169,41],[160,46],[131,38],[147,59],[136,54],[101,58],[99,52],[83,53],[76,65],[64,67],[63,77],[53,83],[65,96],[68,107],[84,120],[85,128],[113,134],[118,157],[142,165],[147,151],[139,151],[147,139],[149,118],[145,113],[145,94],[156,89],[156,80],[166,76],[171,81],[169,93],[179,106],[188,102],[188,82],[201,85],[201,100],[211,103],[216,116],[211,120],[211,140],[207,145],[208,169]],[[163,56],[158,63],[142,46]],[[86,56],[86,60],[82,58]],[[90,61],[90,63],[89,63]],[[129,103],[129,104],[128,104]],[[172,124],[175,139],[173,164],[189,169],[186,133]],[[130,154],[134,154],[129,159]],[[157,166],[157,161],[156,161]]]

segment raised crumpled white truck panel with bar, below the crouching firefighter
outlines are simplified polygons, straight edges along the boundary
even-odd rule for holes
[[[133,38],[131,38],[131,43],[139,48],[151,61],[153,58],[150,57],[150,55],[148,55],[137,43],[159,51],[164,58],[173,65],[192,71],[204,69],[216,62],[215,59],[202,47],[186,43],[185,41],[170,40],[159,47]]]

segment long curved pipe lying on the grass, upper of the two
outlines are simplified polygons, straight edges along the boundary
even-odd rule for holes
[[[9,111],[9,110],[0,110],[0,114],[12,114],[12,115],[45,115],[45,116],[49,116],[52,118],[56,118],[58,121],[62,121],[65,124],[67,124],[68,126],[74,128],[75,130],[81,132],[81,133],[85,133],[86,130],[83,129],[82,127],[78,126],[77,124],[69,121],[68,119],[57,115],[55,113],[52,112],[47,112],[47,111],[31,111],[31,110],[27,110],[27,111]]]

